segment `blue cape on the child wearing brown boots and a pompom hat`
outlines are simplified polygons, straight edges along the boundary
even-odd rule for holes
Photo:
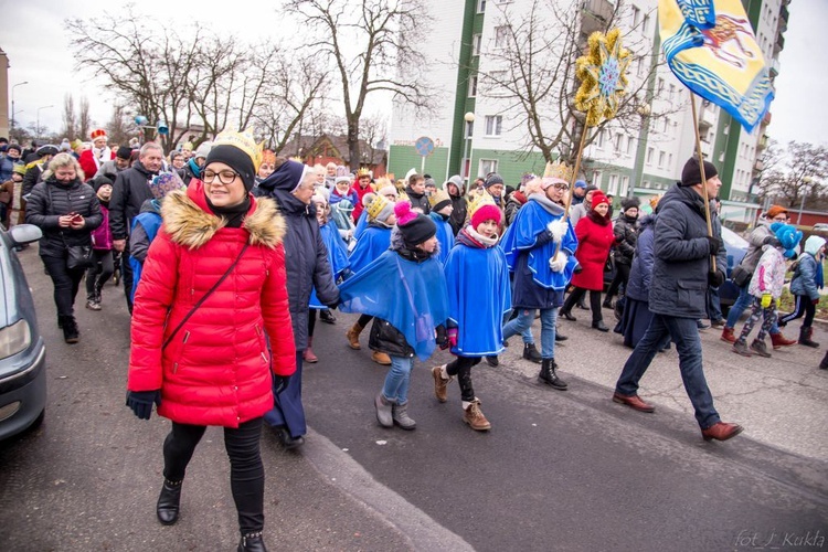
[[[498,247],[457,244],[445,265],[448,319],[457,325],[454,354],[488,357],[503,350],[503,317],[511,310],[509,266]]]

